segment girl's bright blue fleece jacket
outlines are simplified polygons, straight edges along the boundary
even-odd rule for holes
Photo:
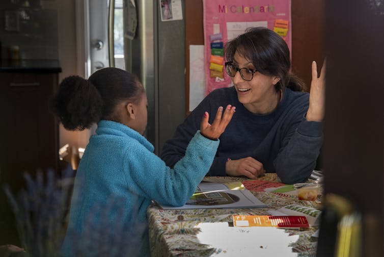
[[[218,144],[218,140],[209,140],[195,132],[185,157],[171,169],[138,132],[114,121],[100,121],[76,173],[62,254],[74,256],[78,246],[94,238],[100,224],[109,222],[113,228],[116,222],[127,223],[132,219],[147,224],[146,211],[152,199],[167,205],[183,205],[207,173]],[[118,205],[125,211],[120,220],[116,218],[117,211],[107,206],[112,198],[119,199]],[[97,208],[113,212],[102,216],[95,211]],[[90,219],[96,220],[92,233],[85,231]],[[135,236],[142,238],[140,255],[149,256],[148,230]]]

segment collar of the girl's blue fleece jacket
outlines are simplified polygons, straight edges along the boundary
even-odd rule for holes
[[[100,120],[97,123],[96,129],[97,135],[115,135],[115,136],[128,136],[133,138],[142,145],[144,145],[149,151],[153,152],[154,146],[139,132],[132,130],[130,127],[112,120]]]

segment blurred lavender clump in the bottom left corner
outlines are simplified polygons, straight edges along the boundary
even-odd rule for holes
[[[16,220],[21,246],[30,256],[59,256],[63,237],[63,220],[67,210],[72,169],[63,171],[62,177],[52,169],[44,176],[38,171],[36,181],[24,173],[26,189],[14,195],[8,185],[5,193]]]

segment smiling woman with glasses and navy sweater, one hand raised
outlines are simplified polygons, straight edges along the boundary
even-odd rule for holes
[[[211,92],[164,144],[161,158],[173,166],[199,129],[203,110],[228,102],[236,115],[220,137],[207,175],[257,178],[276,172],[281,181],[305,181],[322,144],[325,65],[312,63],[311,95],[290,73],[289,48],[275,32],[251,28],[226,44],[226,71],[233,87]]]

